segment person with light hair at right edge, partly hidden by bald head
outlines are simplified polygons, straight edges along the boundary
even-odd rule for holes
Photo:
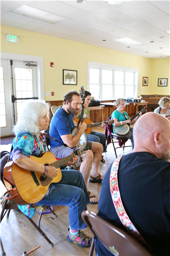
[[[170,99],[168,97],[163,97],[158,102],[160,107],[157,107],[154,112],[167,117],[170,121]]]

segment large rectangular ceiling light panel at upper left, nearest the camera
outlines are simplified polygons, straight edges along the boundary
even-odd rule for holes
[[[43,20],[49,23],[56,23],[58,21],[66,20],[66,18],[60,17],[58,15],[55,15],[49,12],[41,11],[27,5],[23,5],[18,9],[15,9],[13,12],[21,15],[25,15],[27,17],[34,18],[37,20]]]

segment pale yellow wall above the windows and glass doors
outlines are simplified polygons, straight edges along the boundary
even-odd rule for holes
[[[6,42],[5,33],[20,35],[18,44]],[[82,85],[86,89],[88,61],[138,68],[140,70],[139,95],[155,94],[161,90],[164,90],[164,94],[169,94],[169,79],[166,89],[165,87],[162,89],[162,87],[156,86],[158,76],[160,76],[159,78],[169,78],[169,59],[151,60],[137,55],[6,26],[1,26],[1,51],[44,58],[45,91],[50,92],[50,94],[51,92],[55,93],[54,97],[46,96],[45,100],[62,100],[64,93],[71,89],[79,90]],[[54,62],[54,68],[50,67],[50,62]],[[63,85],[63,69],[78,70],[77,86]],[[143,76],[149,77],[148,86],[142,86]]]

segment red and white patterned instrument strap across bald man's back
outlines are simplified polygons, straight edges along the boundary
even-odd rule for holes
[[[120,195],[120,190],[118,188],[118,179],[117,179],[118,166],[121,161],[121,158],[122,156],[118,157],[112,164],[112,168],[111,168],[110,189],[111,189],[113,204],[115,206],[115,210],[117,212],[118,218],[121,220],[123,226],[128,230],[130,235],[137,238],[137,240],[143,245],[145,245],[149,251],[152,251],[152,249],[147,244],[145,239],[140,235],[139,231],[134,227],[133,223],[129,219],[128,214],[124,209],[121,195]]]

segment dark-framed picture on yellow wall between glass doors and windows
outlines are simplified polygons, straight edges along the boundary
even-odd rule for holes
[[[78,84],[78,71],[63,69],[63,84],[77,85]]]

